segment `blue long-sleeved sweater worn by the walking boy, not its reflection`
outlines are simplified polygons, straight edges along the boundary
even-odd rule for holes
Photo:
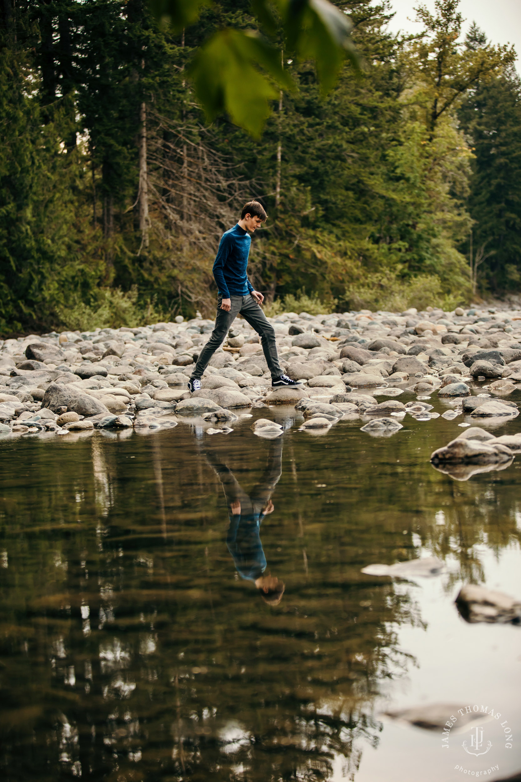
[[[223,299],[245,296],[254,290],[246,274],[251,244],[248,231],[244,231],[238,223],[222,235],[212,271]]]

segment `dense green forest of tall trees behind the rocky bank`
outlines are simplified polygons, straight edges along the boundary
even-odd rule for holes
[[[388,30],[387,0],[334,5],[359,69],[324,94],[281,39],[295,86],[272,89],[252,136],[225,113],[208,124],[190,66],[216,30],[259,29],[248,0],[203,4],[181,31],[145,0],[4,0],[0,334],[210,315],[220,235],[251,198],[272,314],[519,291],[515,52],[475,25],[462,39],[458,0],[420,5],[414,37]]]

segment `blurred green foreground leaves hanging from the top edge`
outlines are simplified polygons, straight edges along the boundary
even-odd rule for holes
[[[209,0],[149,0],[162,27],[183,30],[197,20]],[[347,56],[359,66],[349,33],[348,16],[328,0],[253,0],[252,13],[267,41],[255,30],[224,28],[208,38],[194,55],[188,74],[208,120],[226,113],[258,137],[269,117],[270,101],[294,82],[284,71],[284,52],[295,59],[311,59],[323,92],[333,86]]]

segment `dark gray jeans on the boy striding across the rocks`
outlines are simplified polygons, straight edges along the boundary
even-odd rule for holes
[[[266,357],[266,363],[268,364],[272,378],[280,377],[280,375],[282,375],[282,370],[280,369],[277,343],[275,342],[275,331],[253,296],[250,293],[248,293],[247,296],[230,296],[230,312],[221,310],[222,301],[222,296],[219,296],[217,299],[216,325],[213,328],[210,339],[203,347],[201,353],[199,353],[197,364],[195,364],[194,371],[191,375],[192,378],[202,378],[202,373],[208,366],[208,362],[217,348],[223,344],[228,329],[238,314],[241,314],[242,317],[244,317],[244,320],[247,321],[252,328],[255,328],[257,334],[260,335],[262,350]]]

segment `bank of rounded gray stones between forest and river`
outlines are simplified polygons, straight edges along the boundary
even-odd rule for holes
[[[213,327],[202,317],[6,339],[0,342],[0,436],[165,429],[180,416],[202,416],[209,433],[230,432],[237,409],[273,404],[297,407],[301,429],[310,433],[347,418],[359,419],[369,435],[389,436],[406,414],[437,417],[432,394],[448,401],[444,418],[467,414],[490,428],[518,415],[506,397],[521,388],[521,310],[284,313],[271,322],[281,366],[302,381],[299,388],[271,389],[259,337],[241,318],[192,394],[187,379]],[[406,391],[416,399],[403,404],[398,396]],[[444,472],[455,463],[489,468],[519,450],[516,437],[507,443],[473,429],[476,436],[463,432],[435,452],[434,465]],[[256,421],[254,432],[277,437],[282,429],[267,419]]]

